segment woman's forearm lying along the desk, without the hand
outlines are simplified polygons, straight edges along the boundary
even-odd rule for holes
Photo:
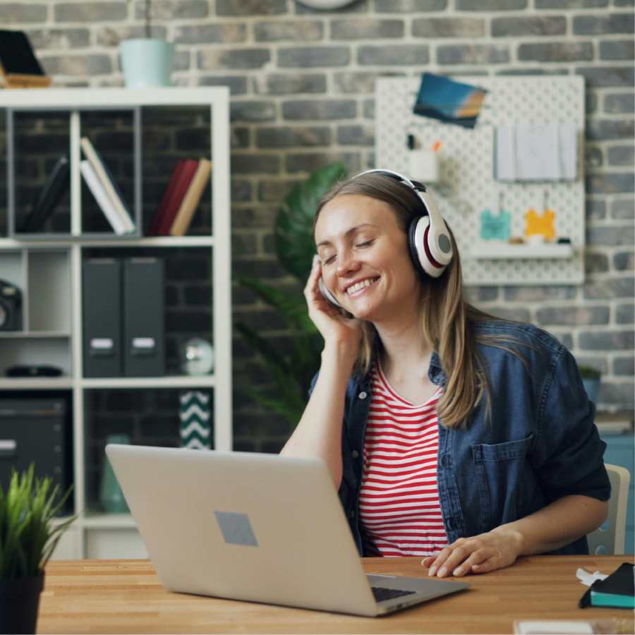
[[[607,501],[582,495],[563,496],[538,512],[493,531],[512,533],[519,541],[519,555],[545,553],[594,531],[607,513]]]

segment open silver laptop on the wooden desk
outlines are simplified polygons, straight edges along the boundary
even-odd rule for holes
[[[467,588],[366,575],[326,464],[277,454],[108,444],[169,591],[374,617]]]

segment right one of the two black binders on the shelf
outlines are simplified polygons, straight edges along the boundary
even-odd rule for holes
[[[123,370],[126,376],[165,375],[164,304],[163,260],[124,260]]]

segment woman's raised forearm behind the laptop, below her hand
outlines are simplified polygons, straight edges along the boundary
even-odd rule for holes
[[[288,456],[318,456],[323,459],[336,488],[341,483],[341,426],[346,384],[354,356],[332,346],[322,351],[320,375],[293,435],[282,448]]]

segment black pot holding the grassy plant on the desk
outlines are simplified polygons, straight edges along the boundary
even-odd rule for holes
[[[44,574],[0,581],[0,633],[35,633]]]

